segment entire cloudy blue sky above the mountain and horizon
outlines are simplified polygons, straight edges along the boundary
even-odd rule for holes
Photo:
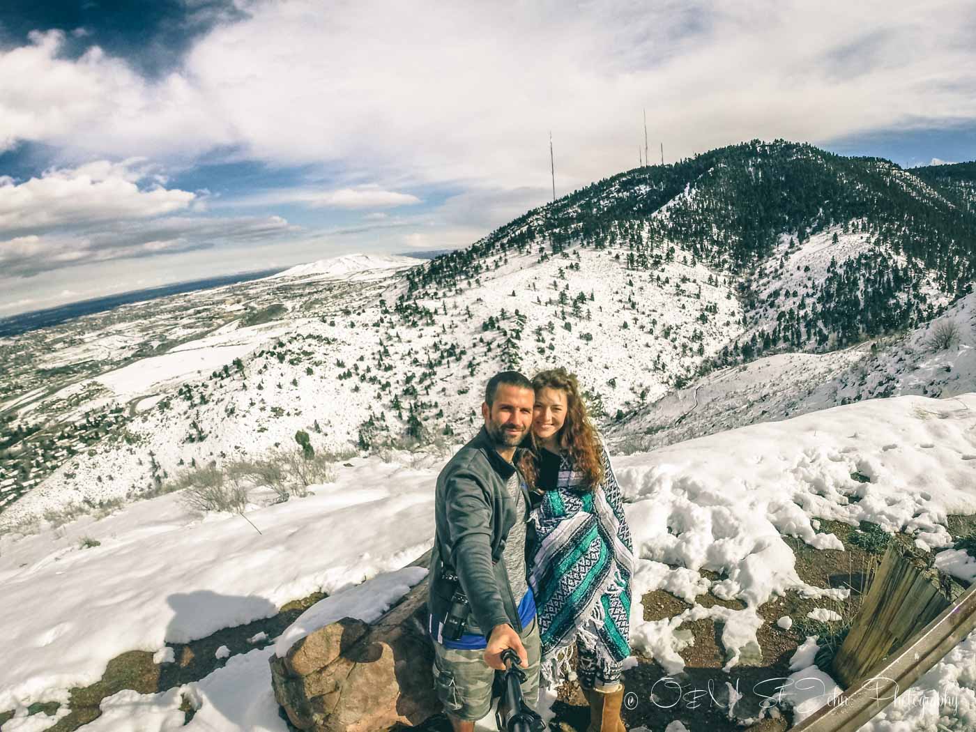
[[[6,0],[0,317],[467,246],[638,164],[777,138],[976,159],[976,5]],[[657,150],[657,152],[655,152]]]

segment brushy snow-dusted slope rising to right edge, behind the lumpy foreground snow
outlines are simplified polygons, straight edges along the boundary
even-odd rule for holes
[[[947,341],[940,347],[937,333]],[[976,293],[901,336],[829,353],[779,353],[713,372],[608,427],[624,451],[781,420],[864,399],[976,389]]]

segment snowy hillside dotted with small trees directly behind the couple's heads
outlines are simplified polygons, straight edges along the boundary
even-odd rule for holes
[[[499,258],[470,288],[427,292],[409,306],[394,305],[397,274],[329,280],[292,293],[287,320],[224,327],[103,374],[90,380],[102,403],[139,409],[126,446],[102,442],[74,456],[6,508],[0,525],[65,502],[133,497],[154,474],[190,464],[294,447],[299,429],[316,449],[369,446],[367,432],[376,433],[371,444],[396,443],[414,408],[422,441],[449,438],[473,424],[480,385],[507,367],[531,375],[564,366],[593,406],[629,411],[714,355],[737,332],[741,306],[681,249],[654,271],[629,269],[627,253]]]

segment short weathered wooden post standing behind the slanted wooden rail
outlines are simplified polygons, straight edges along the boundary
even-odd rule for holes
[[[892,541],[861,610],[834,656],[834,678],[850,688],[945,610],[961,591],[938,570],[906,556]]]

